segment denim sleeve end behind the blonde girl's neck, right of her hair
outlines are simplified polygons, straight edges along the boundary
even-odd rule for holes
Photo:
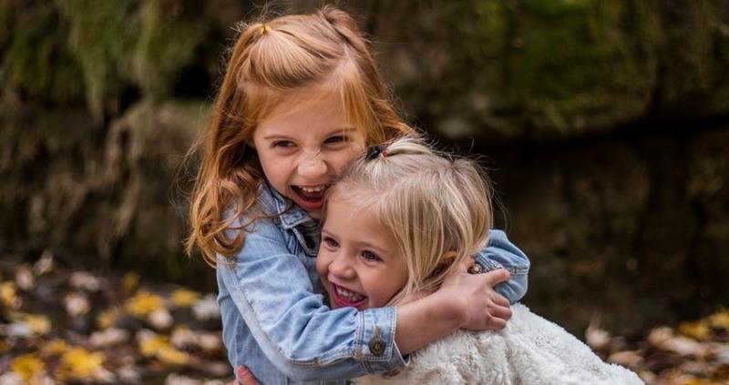
[[[511,279],[499,283],[496,291],[516,303],[527,293],[529,281],[529,258],[519,248],[509,242],[506,233],[491,229],[488,245],[476,255],[476,263],[484,271],[506,268]]]

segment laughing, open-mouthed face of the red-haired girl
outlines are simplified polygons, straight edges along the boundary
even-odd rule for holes
[[[253,132],[266,179],[282,196],[321,218],[326,188],[364,149],[334,92],[305,88],[283,98]]]

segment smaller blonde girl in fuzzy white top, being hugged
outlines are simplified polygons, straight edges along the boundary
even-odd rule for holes
[[[402,304],[436,290],[488,241],[489,188],[477,164],[437,155],[417,139],[372,147],[328,194],[317,269],[334,308]],[[529,268],[523,258],[500,264]],[[512,309],[500,332],[457,331],[416,352],[405,370],[355,382],[642,383],[547,319],[520,304]]]

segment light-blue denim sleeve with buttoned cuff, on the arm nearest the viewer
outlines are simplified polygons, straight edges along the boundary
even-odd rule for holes
[[[231,298],[221,302],[223,322],[226,313],[240,312],[265,356],[287,377],[351,379],[405,365],[395,346],[395,308],[329,309],[271,220],[258,220],[234,258],[219,257],[217,270]]]

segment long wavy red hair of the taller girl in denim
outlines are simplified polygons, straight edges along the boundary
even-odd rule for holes
[[[324,6],[313,15],[284,15],[246,25],[231,51],[225,76],[200,147],[192,191],[188,253],[197,245],[216,264],[242,247],[264,175],[248,143],[273,106],[291,91],[329,86],[342,98],[346,118],[363,129],[368,145],[414,135],[397,116],[370,46],[354,19]],[[226,211],[226,210],[230,210]],[[226,234],[237,218],[248,221]]]

